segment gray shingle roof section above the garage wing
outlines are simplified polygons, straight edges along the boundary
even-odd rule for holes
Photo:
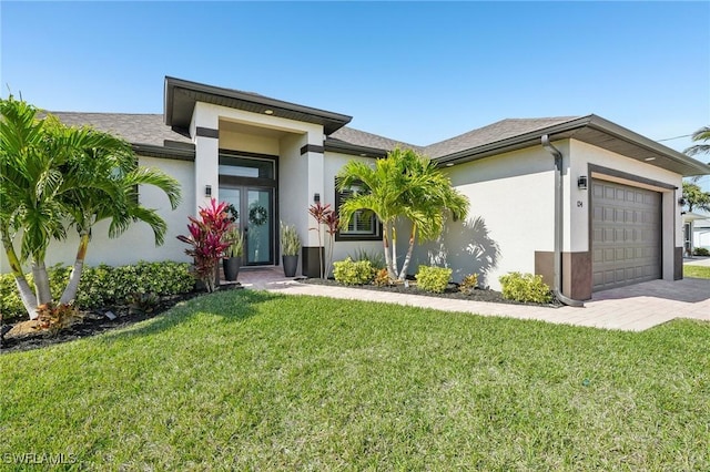
[[[503,141],[508,137],[518,136],[535,130],[541,130],[547,126],[565,123],[575,119],[577,119],[577,116],[501,120],[449,140],[429,144],[424,147],[424,153],[433,158],[442,157],[459,151],[466,151],[485,144]]]

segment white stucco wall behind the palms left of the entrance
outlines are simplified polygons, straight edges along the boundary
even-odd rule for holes
[[[182,185],[182,203],[172,211],[165,194],[152,186],[141,186],[139,189],[140,202],[148,208],[155,208],[168,224],[165,243],[155,246],[155,239],[150,226],[134,223],[129,229],[115,239],[108,237],[108,222],[99,223],[92,230],[92,239],[87,253],[87,264],[97,266],[108,264],[112,266],[134,264],[139,260],[184,260],[189,258],[184,254],[185,245],[176,239],[180,234],[186,233],[187,215],[192,214],[195,201],[194,164],[186,161],[175,161],[155,157],[139,157],[142,166],[155,167],[176,178]],[[16,244],[19,252],[20,243]],[[63,242],[53,242],[47,257],[48,265],[71,265],[74,261],[79,237],[73,228],[69,228],[68,238]],[[8,273],[9,266],[4,252],[0,257],[0,273]]]

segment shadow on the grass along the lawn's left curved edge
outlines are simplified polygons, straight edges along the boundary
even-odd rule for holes
[[[241,322],[257,314],[255,306],[283,295],[261,290],[229,290],[205,294],[175,305],[168,311],[119,331],[108,332],[101,337],[102,342],[128,340],[143,336],[154,336],[170,330],[178,325],[190,321],[195,315],[209,315],[224,322]]]

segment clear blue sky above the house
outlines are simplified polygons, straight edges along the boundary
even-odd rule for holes
[[[345,113],[420,145],[505,117],[596,113],[653,140],[710,124],[707,1],[0,9],[1,95],[9,86],[47,110],[161,113],[172,75]]]

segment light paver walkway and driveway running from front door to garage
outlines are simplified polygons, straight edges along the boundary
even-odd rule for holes
[[[710,260],[710,259],[707,259]],[[584,308],[547,308],[392,294],[361,288],[301,284],[285,278],[280,267],[243,269],[246,288],[290,295],[313,295],[353,300],[383,301],[404,306],[463,311],[481,316],[536,319],[604,329],[642,331],[674,318],[710,321],[710,279],[652,280],[595,294]]]

